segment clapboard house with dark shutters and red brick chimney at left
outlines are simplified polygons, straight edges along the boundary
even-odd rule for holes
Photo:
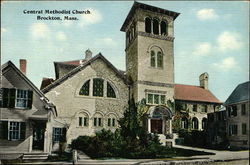
[[[11,61],[1,67],[0,159],[50,153],[54,105],[25,76],[26,60],[22,72]]]

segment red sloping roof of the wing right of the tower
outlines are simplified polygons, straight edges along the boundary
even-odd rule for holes
[[[217,103],[222,102],[217,99],[209,90],[200,86],[175,84],[174,98],[176,100]]]

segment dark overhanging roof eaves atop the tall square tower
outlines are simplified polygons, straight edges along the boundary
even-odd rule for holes
[[[162,9],[159,7],[155,7],[155,6],[151,6],[151,5],[147,5],[144,3],[139,3],[139,2],[134,2],[132,8],[130,9],[122,27],[121,27],[121,31],[125,32],[125,29],[127,27],[127,25],[129,24],[129,21],[131,20],[131,18],[133,17],[135,11],[137,9],[142,9],[142,10],[147,10],[147,11],[152,11],[152,12],[158,12],[161,14],[166,14],[168,16],[171,16],[174,18],[174,20],[178,17],[178,15],[180,13],[174,12],[174,11],[170,11],[170,10],[166,10],[166,9]]]

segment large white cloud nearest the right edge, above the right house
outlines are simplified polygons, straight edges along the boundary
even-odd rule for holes
[[[237,50],[241,48],[239,34],[236,32],[225,31],[217,38],[218,48],[220,51]]]

